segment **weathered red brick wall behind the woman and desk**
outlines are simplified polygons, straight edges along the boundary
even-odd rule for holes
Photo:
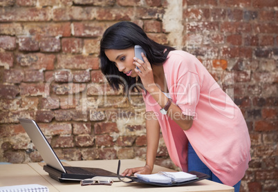
[[[41,161],[18,117],[35,119],[64,160],[145,158],[142,97],[111,90],[98,67],[102,33],[129,20],[203,62],[248,123],[241,191],[275,191],[277,2],[0,1],[0,162]],[[156,164],[175,168],[163,139]]]

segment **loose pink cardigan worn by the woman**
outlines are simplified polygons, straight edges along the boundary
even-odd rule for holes
[[[169,52],[163,68],[173,102],[183,114],[194,116],[192,127],[183,131],[167,115],[160,114],[160,106],[149,93],[143,94],[146,111],[154,111],[158,117],[172,161],[187,171],[189,140],[198,157],[223,184],[237,184],[251,160],[250,136],[240,109],[188,52]]]

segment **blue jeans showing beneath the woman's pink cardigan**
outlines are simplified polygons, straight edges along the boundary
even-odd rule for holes
[[[188,143],[188,171],[198,171],[201,173],[205,173],[207,175],[210,175],[210,178],[208,180],[214,181],[214,182],[221,182],[210,169],[200,160],[196,152],[194,151],[192,145]],[[239,187],[241,186],[241,181],[239,181],[237,184],[235,184],[234,187],[234,192],[239,192]]]

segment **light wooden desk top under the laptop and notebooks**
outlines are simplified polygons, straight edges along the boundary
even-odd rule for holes
[[[66,162],[71,166],[88,166],[88,167],[100,167],[116,173],[118,160],[94,160],[94,161],[74,161]],[[121,160],[121,171],[134,166],[144,166],[145,162],[140,160]],[[154,173],[158,171],[172,171],[162,166],[154,166]],[[217,192],[233,192],[234,188],[219,184],[209,180],[202,180],[194,182],[185,186],[174,187],[158,187],[147,184],[124,183],[114,182],[112,186],[93,185],[93,186],[80,186],[79,182],[57,182],[49,177],[41,164],[29,163],[29,164],[3,164],[0,165],[0,186],[8,186],[12,184],[41,184],[48,186],[50,192],[55,191],[217,191]]]

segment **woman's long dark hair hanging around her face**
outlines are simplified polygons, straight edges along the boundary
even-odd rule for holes
[[[144,30],[131,21],[120,21],[110,26],[100,41],[100,69],[115,90],[119,90],[121,85],[126,90],[129,88],[138,90],[138,86],[134,86],[134,84],[139,84],[141,81],[140,78],[136,80],[136,77],[129,77],[120,72],[106,57],[104,50],[122,50],[135,45],[141,46],[146,51],[147,59],[151,65],[163,64],[168,53],[175,50],[175,48],[158,44],[149,39]]]

